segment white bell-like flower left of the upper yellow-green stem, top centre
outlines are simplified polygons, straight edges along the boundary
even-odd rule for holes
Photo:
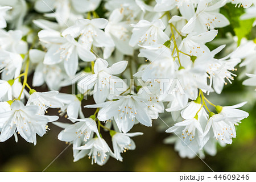
[[[169,37],[163,32],[166,27],[161,19],[152,22],[140,20],[137,24],[131,24],[131,27],[133,27],[133,35],[129,42],[130,46],[163,44],[169,40]]]

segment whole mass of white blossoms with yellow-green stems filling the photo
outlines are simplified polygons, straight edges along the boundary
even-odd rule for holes
[[[250,73],[243,83],[256,86],[253,40],[231,36],[231,46],[208,47],[230,24],[220,13],[228,3],[245,10],[241,19],[256,18],[254,0],[0,1],[0,141],[19,134],[36,144],[53,122],[74,162],[88,156],[103,165],[135,150],[131,137],[143,134],[129,133],[135,125],[158,119],[181,157],[216,155],[249,114],[238,109],[246,102],[220,106],[208,95],[232,84],[239,66]],[[64,86],[72,93],[59,93]],[[95,104],[84,104],[91,96]],[[96,111],[86,118],[82,107]],[[49,108],[70,122],[54,122]]]

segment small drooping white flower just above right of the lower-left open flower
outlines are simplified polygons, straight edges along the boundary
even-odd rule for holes
[[[56,96],[59,92],[34,92],[28,98],[27,105],[37,105],[40,107],[40,114],[47,113],[48,107],[60,108],[63,107],[63,103],[57,100]]]

